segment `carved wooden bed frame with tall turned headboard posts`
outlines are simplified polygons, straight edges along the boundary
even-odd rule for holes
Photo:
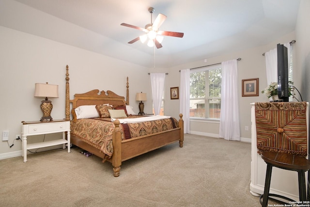
[[[129,105],[129,84],[128,77],[126,83],[126,100],[124,96],[118,96],[112,91],[101,91],[92,90],[84,94],[75,94],[74,99],[70,100],[69,93],[69,67],[66,66],[66,98],[65,98],[65,119],[70,120],[70,103],[72,103],[72,111],[75,108],[82,105],[98,105],[109,103],[111,105]],[[74,113],[72,113],[73,120],[76,119]],[[123,140],[121,138],[120,122],[119,120],[114,121],[114,131],[112,132],[112,145],[113,154],[107,161],[111,162],[113,165],[114,176],[120,175],[120,169],[122,161],[137,157],[141,154],[147,153],[149,151],[155,150],[162,146],[168,145],[179,141],[180,147],[183,147],[184,141],[184,123],[182,119],[182,114],[180,114],[180,119],[178,121],[179,127],[169,129],[163,132],[157,132],[155,134],[140,136],[137,138],[132,138],[128,140]],[[93,153],[94,155],[105,159],[105,154],[103,154],[96,147],[83,142],[71,133],[71,143]],[[139,146],[139,147],[137,147]]]

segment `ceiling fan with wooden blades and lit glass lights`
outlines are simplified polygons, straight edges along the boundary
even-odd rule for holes
[[[145,25],[145,28],[141,28],[141,27],[137,27],[134,25],[130,25],[130,24],[126,24],[126,23],[122,23],[122,26],[125,27],[131,27],[133,29],[137,29],[137,30],[141,30],[143,32],[145,32],[144,35],[141,35],[133,40],[131,40],[130,42],[128,42],[129,44],[135,43],[138,40],[140,40],[142,43],[144,43],[147,39],[148,40],[148,46],[149,47],[153,47],[154,44],[156,46],[156,48],[162,48],[163,46],[161,45],[161,42],[163,40],[163,36],[172,36],[172,37],[183,37],[184,33],[182,32],[168,32],[168,31],[159,31],[159,27],[162,25],[162,23],[166,20],[167,16],[163,15],[163,14],[159,14],[154,23],[153,23],[153,19],[152,19],[152,14],[154,13],[155,9],[153,7],[149,8],[149,12],[151,13],[151,23]]]

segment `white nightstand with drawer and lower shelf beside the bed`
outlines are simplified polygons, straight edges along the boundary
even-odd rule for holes
[[[68,144],[68,152],[70,152],[70,121],[64,119],[52,120],[47,122],[22,121],[22,156],[24,157],[24,162],[27,162],[27,150],[36,149],[40,147],[54,146],[58,144],[63,144],[63,149],[65,144]],[[31,143],[27,144],[27,136],[40,135],[40,134],[51,134],[62,132],[62,139],[47,141],[42,143]],[[65,139],[65,132],[67,132],[67,140]]]

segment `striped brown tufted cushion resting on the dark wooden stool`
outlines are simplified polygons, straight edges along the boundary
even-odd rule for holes
[[[306,102],[255,103],[258,153],[274,151],[306,156]]]

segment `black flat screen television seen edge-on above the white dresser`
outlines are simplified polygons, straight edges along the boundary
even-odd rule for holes
[[[289,101],[289,68],[287,48],[284,45],[277,45],[278,53],[278,96],[283,102]]]

